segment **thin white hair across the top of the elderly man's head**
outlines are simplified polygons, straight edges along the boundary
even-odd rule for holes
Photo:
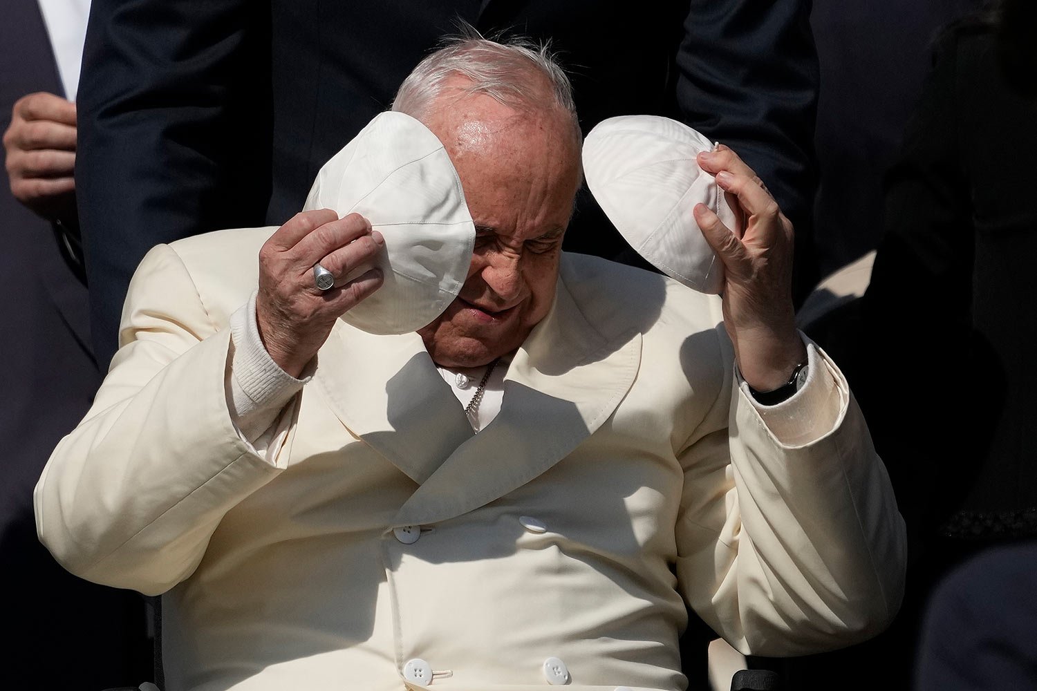
[[[418,63],[396,92],[392,110],[424,120],[447,79],[460,76],[471,82],[459,89],[461,97],[484,93],[516,110],[561,108],[577,123],[572,85],[549,45],[525,38],[497,42],[471,27],[464,31]]]

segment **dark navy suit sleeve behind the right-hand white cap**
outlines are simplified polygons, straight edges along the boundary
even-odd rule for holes
[[[819,70],[811,0],[692,0],[677,52],[677,105],[730,146],[795,227],[793,293],[813,287],[814,125]]]

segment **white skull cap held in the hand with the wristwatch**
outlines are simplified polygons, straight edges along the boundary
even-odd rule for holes
[[[587,185],[620,234],[661,271],[704,293],[724,287],[724,264],[692,209],[701,202],[739,230],[724,191],[695,161],[711,150],[695,129],[657,115],[602,120],[583,147]]]

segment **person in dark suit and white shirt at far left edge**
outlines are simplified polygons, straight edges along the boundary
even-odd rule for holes
[[[101,381],[76,218],[76,83],[88,1],[5,0],[0,21],[2,678],[55,689],[150,674],[143,599],[64,571],[36,539],[32,489]]]

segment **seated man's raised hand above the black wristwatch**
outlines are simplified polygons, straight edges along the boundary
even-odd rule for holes
[[[720,145],[698,155],[745,219],[740,235],[705,204],[694,209],[706,242],[724,262],[724,325],[742,378],[757,391],[788,381],[807,358],[792,306],[792,224],[753,170]]]

